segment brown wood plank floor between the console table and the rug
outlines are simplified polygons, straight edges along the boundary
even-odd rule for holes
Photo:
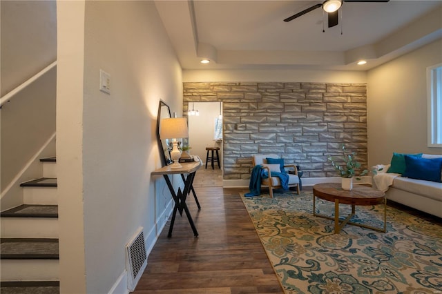
[[[177,215],[172,237],[166,226],[134,293],[283,293],[239,197],[244,188],[222,188],[220,180],[204,186],[201,178],[221,172],[203,168],[194,182],[201,210],[187,198],[199,236]]]

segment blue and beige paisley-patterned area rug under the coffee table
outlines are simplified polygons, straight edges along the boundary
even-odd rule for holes
[[[442,227],[387,206],[387,233],[314,217],[312,193],[241,195],[285,293],[442,293]],[[339,215],[351,206],[340,205]],[[316,197],[316,212],[334,203]],[[383,205],[352,222],[383,228]]]

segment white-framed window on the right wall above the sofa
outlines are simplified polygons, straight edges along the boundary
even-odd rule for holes
[[[428,147],[442,148],[442,63],[427,68]]]

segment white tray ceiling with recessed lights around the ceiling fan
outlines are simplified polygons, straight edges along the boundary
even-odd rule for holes
[[[283,21],[317,3],[160,0],[155,6],[184,70],[369,70],[442,38],[442,0],[344,2],[333,28],[321,8]],[[203,58],[211,63],[201,64]],[[357,66],[360,59],[367,64]]]

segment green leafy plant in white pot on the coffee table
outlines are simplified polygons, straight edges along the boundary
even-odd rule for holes
[[[332,156],[327,157],[329,161],[332,162],[332,166],[338,172],[338,175],[342,178],[342,188],[344,190],[352,190],[353,188],[353,177],[356,176],[356,171],[361,168],[361,164],[356,161],[356,153],[347,153],[345,150],[345,145],[342,146],[343,155],[336,161]],[[356,179],[361,179],[360,177],[367,175],[368,170],[363,170]]]

